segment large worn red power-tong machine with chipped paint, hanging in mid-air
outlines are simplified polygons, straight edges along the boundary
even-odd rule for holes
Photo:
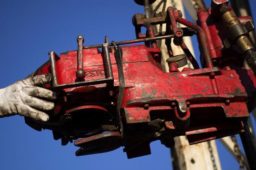
[[[149,1],[145,1],[148,7]],[[145,8],[146,9],[146,8]],[[52,74],[46,88],[59,94],[48,122],[25,118],[36,130],[50,129],[62,145],[76,140],[76,155],[103,153],[124,146],[128,158],[150,154],[149,143],[161,140],[173,147],[175,136],[186,135],[190,144],[244,132],[244,120],[255,107],[255,50],[248,32],[251,17],[237,17],[225,1],[198,10],[198,24],[182,18],[179,10],[135,14],[136,40],[83,46],[50,60],[34,75]],[[240,22],[241,21],[241,22]],[[177,22],[187,26],[178,28]],[[166,32],[153,25],[166,23]],[[147,33],[141,33],[141,27]],[[199,66],[182,41],[198,36]],[[231,35],[231,36],[230,36]],[[173,56],[171,38],[185,55]],[[156,41],[166,39],[170,72],[161,70]],[[124,45],[145,42],[145,45]],[[252,70],[243,68],[244,56]],[[255,58],[254,58],[255,57]],[[187,59],[194,69],[178,68]],[[82,139],[79,139],[82,138]],[[79,140],[77,140],[79,139]]]

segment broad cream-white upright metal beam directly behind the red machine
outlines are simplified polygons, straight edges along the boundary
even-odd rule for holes
[[[153,3],[151,6],[151,10],[153,10],[159,2],[160,2],[160,0],[156,0],[156,2]],[[157,12],[160,12],[162,10],[162,5],[160,6],[160,8],[158,9]],[[184,12],[182,1],[168,0],[167,4],[166,4],[166,9],[169,6],[173,6],[173,7],[177,8],[178,10],[181,10],[181,12],[183,13],[183,17],[185,18],[185,12]],[[180,25],[178,25],[178,26],[181,27]],[[165,31],[165,27],[166,26],[163,25],[162,31]],[[155,30],[159,31],[159,26],[156,26]],[[194,50],[193,50],[193,45],[191,43],[191,38],[184,37],[183,41],[185,42],[188,49],[191,51],[192,55],[194,56]],[[172,46],[174,55],[184,54],[183,50],[180,47],[175,46],[173,44],[173,42],[171,43],[171,46]],[[169,58],[169,55],[168,55],[167,48],[165,45],[165,40],[162,40],[160,50],[162,52],[162,68],[163,68],[163,70],[168,72],[169,67],[165,61],[167,58]],[[188,65],[186,65],[186,67],[192,68],[192,65],[188,62]],[[174,148],[175,148],[175,151],[177,154],[177,161],[178,161],[177,168],[179,170],[195,170],[195,169],[213,170],[216,168],[218,170],[221,170],[218,151],[217,151],[215,141],[210,141],[209,143],[204,142],[204,143],[189,145],[189,143],[186,139],[186,136],[175,137],[174,141],[175,141]],[[211,146],[210,149],[209,149],[209,144]],[[215,168],[213,166],[211,154],[214,158]]]

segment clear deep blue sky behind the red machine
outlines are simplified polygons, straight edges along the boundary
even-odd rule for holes
[[[255,8],[256,2],[250,3]],[[48,60],[49,51],[76,50],[79,34],[84,36],[84,45],[103,43],[105,35],[110,41],[135,39],[131,22],[135,13],[144,12],[133,0],[0,0],[0,88],[34,72]],[[159,141],[151,144],[151,155],[129,160],[122,148],[76,157],[78,147],[73,143],[61,146],[50,130],[38,132],[19,115],[0,119],[0,143],[3,170],[172,169],[170,151]],[[222,168],[238,169],[218,141],[217,146]]]

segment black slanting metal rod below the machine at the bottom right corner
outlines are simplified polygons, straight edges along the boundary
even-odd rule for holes
[[[245,132],[240,133],[240,138],[243,144],[244,152],[251,170],[256,169],[256,147],[252,140],[251,132],[247,121],[243,121]]]

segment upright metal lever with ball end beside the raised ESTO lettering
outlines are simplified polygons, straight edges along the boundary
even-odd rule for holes
[[[76,78],[84,79],[85,71],[83,69],[83,43],[84,37],[82,35],[77,36],[77,71]]]

